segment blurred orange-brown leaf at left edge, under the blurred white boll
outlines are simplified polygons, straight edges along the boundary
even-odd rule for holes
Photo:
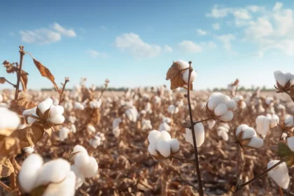
[[[0,141],[0,158],[9,158],[20,153],[20,141],[16,137],[4,137]]]

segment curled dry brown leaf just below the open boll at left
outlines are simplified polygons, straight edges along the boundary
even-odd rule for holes
[[[15,130],[11,136],[20,139],[20,148],[25,148],[35,145],[44,134],[43,126],[37,122],[22,130]]]

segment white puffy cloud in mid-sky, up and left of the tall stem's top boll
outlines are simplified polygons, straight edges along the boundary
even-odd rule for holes
[[[115,44],[117,48],[130,51],[134,57],[156,57],[162,51],[159,45],[148,44],[132,33],[116,37]]]

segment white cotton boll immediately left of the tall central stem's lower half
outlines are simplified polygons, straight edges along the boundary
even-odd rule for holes
[[[167,131],[159,132],[152,130],[148,134],[148,152],[155,158],[169,158],[176,154],[180,149],[180,144],[177,139],[172,139]]]

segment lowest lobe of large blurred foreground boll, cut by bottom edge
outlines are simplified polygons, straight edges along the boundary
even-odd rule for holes
[[[61,183],[51,183],[42,196],[56,196],[56,195],[75,195],[76,175],[73,172],[69,172],[66,179]]]

